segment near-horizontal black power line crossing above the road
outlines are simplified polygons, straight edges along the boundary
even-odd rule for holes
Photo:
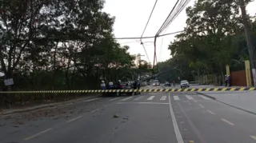
[[[162,37],[162,36],[167,36],[167,35],[171,35],[171,34],[178,34],[184,32],[184,30],[180,30],[180,31],[176,31],[176,32],[172,32],[169,34],[162,34],[162,35],[158,35],[157,37]],[[147,37],[142,37],[142,39],[146,39],[146,38],[155,38],[156,36],[147,36]],[[63,42],[63,41],[71,41],[71,40],[85,40],[85,39],[92,39],[92,40],[98,40],[98,39],[115,39],[115,40],[128,40],[128,39],[141,39],[138,37],[126,37],[126,38],[31,38],[31,39],[5,39],[5,40],[9,40],[9,41],[40,41],[40,40],[45,40],[45,41],[59,41],[59,42]]]

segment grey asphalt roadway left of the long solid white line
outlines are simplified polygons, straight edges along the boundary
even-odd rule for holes
[[[168,93],[157,93],[154,97],[150,93],[144,93],[132,97],[104,97],[81,102],[78,105],[74,103],[68,105],[76,106],[69,118],[60,118],[55,122],[50,122],[52,120],[50,117],[38,118],[38,122],[26,121],[28,126],[32,124],[38,126],[30,131],[28,127],[23,127],[17,133],[5,133],[0,129],[0,137],[2,137],[0,142],[175,143],[177,140],[167,96]],[[151,97],[150,101],[147,100],[149,97]],[[123,104],[117,104],[118,102]],[[137,104],[131,105],[130,102]],[[78,113],[80,109],[87,109],[88,112]]]

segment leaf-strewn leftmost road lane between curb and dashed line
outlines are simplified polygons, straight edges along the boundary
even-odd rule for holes
[[[76,102],[69,105],[58,105],[52,108],[38,109],[26,113],[15,113],[0,117],[0,142],[19,142],[24,137],[40,133],[53,126],[62,125],[66,121],[82,114],[89,114],[106,102],[109,97],[88,102]]]

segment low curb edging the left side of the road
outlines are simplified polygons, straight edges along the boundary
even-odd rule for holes
[[[86,99],[91,99],[91,98],[94,98],[94,97],[102,97],[102,95],[92,96],[92,97],[84,97],[83,99],[81,97],[81,98],[78,98],[78,99],[74,99],[73,101],[72,100],[70,100],[70,101],[60,101],[60,102],[57,102],[57,103],[50,103],[50,104],[42,105],[40,107],[37,107],[37,106],[33,107],[32,106],[32,107],[27,108],[27,109],[18,109],[16,111],[9,111],[9,112],[7,111],[6,113],[1,113],[0,112],[0,117],[10,115],[10,114],[14,114],[14,113],[24,113],[24,112],[30,112],[30,111],[34,111],[34,110],[38,110],[38,109],[52,108],[52,107],[58,106],[58,105],[67,105],[67,104],[72,103],[72,102],[80,102],[81,100],[85,100],[85,98]]]

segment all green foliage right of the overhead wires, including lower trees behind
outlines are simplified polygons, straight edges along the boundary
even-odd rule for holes
[[[186,14],[184,32],[168,47],[173,58],[160,64],[168,66],[160,68],[160,72],[167,69],[172,77],[162,74],[162,78],[222,75],[226,64],[230,64],[231,70],[244,69],[244,60],[249,55],[237,1],[198,0],[186,9]],[[254,44],[255,23],[251,22]],[[177,74],[178,71],[182,72]]]

